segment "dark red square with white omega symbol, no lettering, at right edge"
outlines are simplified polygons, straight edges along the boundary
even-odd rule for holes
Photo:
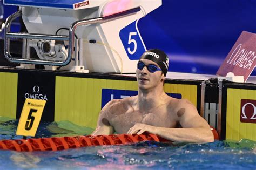
[[[256,123],[256,100],[241,99],[240,121]]]

